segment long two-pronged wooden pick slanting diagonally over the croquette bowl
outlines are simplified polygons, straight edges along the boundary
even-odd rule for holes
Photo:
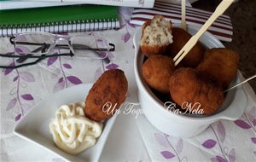
[[[185,55],[189,53],[189,50],[195,46],[195,43],[197,43],[201,35],[207,31],[208,27],[212,25],[212,23],[218,18],[218,16],[223,14],[224,11],[230,7],[230,4],[233,3],[233,1],[234,0],[223,0],[221,3],[218,4],[217,9],[215,9],[212,16],[207,20],[207,22],[203,26],[201,26],[201,29],[192,38],[189,39],[189,42],[187,42],[183,46],[183,49],[181,49],[173,58],[175,66],[177,66],[177,64],[183,60]]]

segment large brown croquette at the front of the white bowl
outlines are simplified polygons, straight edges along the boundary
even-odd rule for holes
[[[179,68],[173,72],[169,86],[173,101],[183,109],[191,103],[193,110],[199,107],[203,114],[209,115],[215,113],[224,101],[223,90],[192,68]]]

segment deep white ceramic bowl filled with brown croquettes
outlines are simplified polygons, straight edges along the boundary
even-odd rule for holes
[[[198,30],[199,29],[195,26],[188,26],[188,32],[192,35]],[[236,120],[241,117],[241,114],[247,107],[247,95],[241,86],[234,90],[230,90],[225,96],[222,107],[218,109],[217,113],[214,113],[211,116],[191,114],[179,115],[168,111],[166,107],[164,107],[164,103],[154,95],[149,89],[148,84],[143,80],[142,65],[144,55],[139,47],[141,33],[142,29],[140,28],[133,39],[136,50],[134,67],[138,87],[138,98],[141,107],[143,108],[143,113],[156,129],[170,136],[190,137],[200,134],[203,130],[207,129],[209,124],[212,124],[219,119]],[[208,49],[224,47],[224,45],[209,32],[204,33],[200,38],[200,42]],[[231,84],[236,84],[238,82],[239,78],[237,77]]]

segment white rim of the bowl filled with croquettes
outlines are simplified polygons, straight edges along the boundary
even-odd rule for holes
[[[180,24],[173,24],[173,27],[179,27]],[[191,25],[188,25],[188,31],[189,29],[192,29],[192,30],[195,30],[195,31],[198,31],[200,28],[198,26],[191,26]],[[154,101],[154,104],[157,105],[157,107],[161,107],[159,111],[162,111],[163,113],[170,113],[170,111],[168,111],[166,108],[164,108],[164,106],[162,104],[160,104],[160,101],[157,101],[154,96],[150,95],[150,93],[148,92],[147,88],[145,86],[148,86],[147,85],[144,85],[143,84],[143,78],[140,76],[140,72],[139,72],[139,68],[138,68],[138,61],[139,61],[139,55],[143,55],[142,52],[141,52],[141,49],[139,47],[139,43],[137,42],[137,38],[138,37],[141,37],[141,32],[142,32],[142,27],[139,27],[137,29],[137,32],[135,33],[134,35],[134,38],[133,38],[133,43],[134,43],[134,46],[135,46],[135,52],[136,52],[136,55],[135,55],[135,61],[134,61],[134,72],[135,72],[135,78],[136,78],[136,81],[137,81],[137,87],[138,89],[140,90],[143,90],[143,95],[147,95],[147,97]],[[203,34],[205,37],[209,37],[211,38],[211,41],[214,41],[215,45],[218,45],[218,48],[224,48],[224,44],[221,43],[218,38],[216,38],[215,36],[213,36],[210,32],[205,32]],[[210,41],[210,40],[209,40]],[[236,80],[240,79],[238,78],[238,72],[237,72],[237,78]],[[148,87],[149,88],[149,87]],[[234,90],[233,90],[234,91]],[[234,93],[234,100],[235,98],[237,97],[237,89],[235,89],[235,92]],[[241,88],[241,93],[243,93],[243,95],[246,95],[244,90]],[[152,92],[153,93],[153,92]],[[158,99],[160,100],[160,99]],[[217,119],[230,119],[230,120],[235,120],[235,119],[239,119],[241,117],[241,114],[245,111],[245,108],[247,107],[247,95],[246,95],[246,104],[245,104],[245,107],[241,108],[241,111],[239,112],[239,114],[236,114],[234,115],[234,112],[231,112],[232,111],[232,108],[225,108],[223,111],[220,111],[218,113],[214,113],[212,115],[209,115],[209,116],[201,116],[200,118],[198,117],[193,117],[193,116],[187,116],[187,115],[178,115],[176,113],[170,113],[170,115],[174,115],[176,118],[180,118],[180,119],[184,119],[184,120],[194,120],[194,121],[206,121],[206,120],[217,120]],[[230,103],[231,105],[232,103]],[[235,110],[234,110],[235,111]],[[231,113],[232,115],[229,115],[229,113]]]

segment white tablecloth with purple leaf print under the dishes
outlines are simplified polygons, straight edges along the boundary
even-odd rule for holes
[[[53,57],[32,67],[1,70],[1,161],[64,161],[15,136],[14,126],[47,95],[76,84],[94,83],[108,69],[120,68],[125,71],[129,83],[127,101],[138,103],[132,43],[137,26],[129,23],[131,9],[120,8],[119,15],[119,30],[92,32],[102,40],[115,43],[116,50],[109,54],[111,62],[108,64],[100,60]],[[12,55],[13,47],[9,38],[1,38],[0,45],[1,53]],[[12,62],[0,59],[1,64]],[[142,114],[120,114],[108,136],[100,161],[255,161],[256,99],[248,84],[243,88],[249,103],[241,119],[220,120],[200,136],[189,139],[174,138],[155,130]]]

